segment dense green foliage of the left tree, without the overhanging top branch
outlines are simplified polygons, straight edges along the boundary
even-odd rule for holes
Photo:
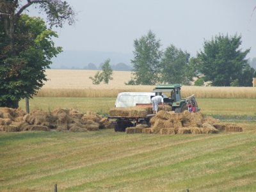
[[[61,47],[54,47],[51,40],[58,36],[39,17],[21,15],[15,30],[15,52],[19,54],[5,57],[0,45],[1,107],[17,108],[21,98],[35,95],[47,80],[44,72],[51,58],[61,52]]]

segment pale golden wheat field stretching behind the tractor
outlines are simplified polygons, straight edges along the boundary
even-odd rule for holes
[[[109,84],[92,84],[90,76],[97,70],[49,69],[45,74],[48,81],[38,92],[38,97],[116,97],[120,92],[152,92],[154,86],[125,85],[132,78],[131,72],[113,72]],[[256,99],[254,87],[211,87],[182,86],[182,97],[195,94],[197,98]]]

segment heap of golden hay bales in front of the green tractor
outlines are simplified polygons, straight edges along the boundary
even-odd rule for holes
[[[129,127],[127,133],[154,133],[154,134],[203,134],[226,132],[241,132],[242,127],[236,124],[223,124],[216,118],[204,117],[202,113],[174,113],[174,111],[159,111],[150,119],[151,127]]]

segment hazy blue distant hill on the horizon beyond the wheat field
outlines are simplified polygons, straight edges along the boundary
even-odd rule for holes
[[[100,69],[108,58],[113,70],[132,69],[132,54],[102,51],[63,51],[52,59],[51,68]]]

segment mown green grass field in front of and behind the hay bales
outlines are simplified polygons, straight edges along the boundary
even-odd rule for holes
[[[198,99],[204,114],[223,116],[255,116],[255,103]],[[30,104],[108,113],[115,98],[36,97]],[[54,184],[58,191],[256,191],[256,123],[236,123],[243,132],[0,132],[0,191],[53,191]]]

